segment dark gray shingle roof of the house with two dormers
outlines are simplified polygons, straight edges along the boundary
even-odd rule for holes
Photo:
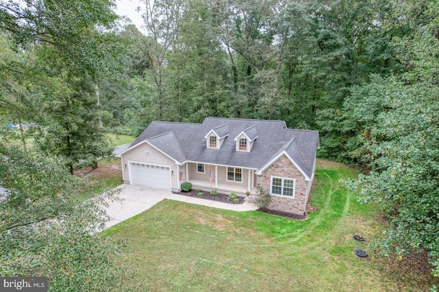
[[[204,137],[213,129],[223,137],[229,134],[219,149],[206,147]],[[243,132],[250,139],[257,137],[250,152],[236,151],[234,138]],[[287,129],[281,120],[206,118],[201,124],[152,122],[130,148],[145,140],[180,163],[193,161],[255,170],[285,150],[311,177],[318,146],[318,131]]]

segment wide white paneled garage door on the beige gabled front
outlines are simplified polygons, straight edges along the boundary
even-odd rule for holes
[[[166,166],[130,163],[131,183],[156,189],[171,189],[171,174]]]

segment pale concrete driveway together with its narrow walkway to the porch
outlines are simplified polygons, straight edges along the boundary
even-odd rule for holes
[[[119,194],[119,198],[121,198],[122,201],[108,201],[108,208],[106,208],[106,212],[111,219],[110,221],[106,222],[106,228],[110,228],[119,222],[140,214],[164,199],[187,202],[190,204],[200,204],[202,206],[233,211],[252,211],[258,209],[256,206],[248,202],[244,202],[244,204],[227,204],[223,202],[215,202],[206,199],[172,194],[170,191],[165,191],[163,189],[152,189],[142,185],[123,184],[119,185],[118,188],[122,189]]]

